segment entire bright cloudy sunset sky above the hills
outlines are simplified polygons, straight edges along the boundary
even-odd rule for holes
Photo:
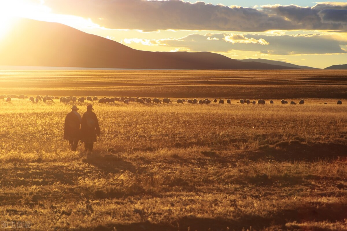
[[[66,24],[138,50],[318,68],[347,63],[344,1],[0,0],[0,37],[12,16]]]

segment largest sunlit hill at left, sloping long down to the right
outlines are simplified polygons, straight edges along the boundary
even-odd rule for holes
[[[0,65],[126,69],[297,69],[210,52],[139,51],[59,24],[18,19],[0,40]]]

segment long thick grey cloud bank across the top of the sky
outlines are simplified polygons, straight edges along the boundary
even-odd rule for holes
[[[262,32],[267,30],[347,30],[346,3],[323,2],[314,7],[267,5],[243,8],[181,0],[45,0],[53,13],[91,18],[112,29],[184,29]],[[341,10],[341,17],[332,12]],[[323,21],[322,21],[323,19]]]

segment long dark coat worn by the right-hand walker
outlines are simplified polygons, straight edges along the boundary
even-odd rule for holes
[[[81,124],[81,141],[84,143],[96,142],[96,135],[100,135],[98,118],[92,111],[83,114]]]

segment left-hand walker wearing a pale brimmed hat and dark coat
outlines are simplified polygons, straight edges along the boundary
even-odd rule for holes
[[[76,151],[80,138],[79,126],[81,126],[82,118],[77,112],[76,105],[72,106],[72,111],[65,117],[64,123],[64,139],[69,140],[71,151]]]

